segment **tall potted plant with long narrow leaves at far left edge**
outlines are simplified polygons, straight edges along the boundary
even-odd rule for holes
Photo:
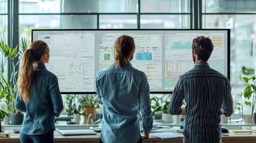
[[[2,92],[5,95],[5,103],[7,104],[7,112],[11,113],[10,120],[14,125],[21,124],[23,121],[23,114],[21,111],[18,111],[15,107],[15,100],[17,95],[17,75],[18,75],[18,66],[21,55],[24,50],[28,47],[27,41],[24,38],[21,38],[20,48],[18,46],[15,48],[11,48],[7,43],[4,42],[4,39],[1,38],[0,41],[0,52],[4,60],[2,60],[2,71],[1,73],[5,73],[4,66],[7,62],[10,63],[10,77],[7,77],[5,74],[1,74],[1,85]],[[14,120],[18,119],[18,120]]]

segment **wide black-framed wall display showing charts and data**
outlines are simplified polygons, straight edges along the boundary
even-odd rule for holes
[[[151,93],[171,93],[178,77],[194,67],[192,41],[197,36],[209,37],[214,44],[209,66],[230,76],[229,29],[36,29],[32,41],[48,43],[46,66],[58,77],[61,93],[86,94],[95,93],[97,71],[115,63],[114,44],[121,35],[134,38],[131,64],[146,73]]]

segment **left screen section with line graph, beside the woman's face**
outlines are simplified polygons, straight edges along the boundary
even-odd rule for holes
[[[60,91],[94,91],[94,33],[41,33],[47,42],[47,69],[58,77]]]

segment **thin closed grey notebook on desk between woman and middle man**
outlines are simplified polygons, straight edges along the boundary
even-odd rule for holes
[[[58,130],[61,135],[68,136],[68,135],[96,135],[91,129],[79,129],[79,130]]]

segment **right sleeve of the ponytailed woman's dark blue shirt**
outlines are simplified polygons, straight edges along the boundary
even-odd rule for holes
[[[53,103],[54,116],[58,117],[60,116],[60,113],[63,110],[63,101],[60,94],[60,89],[58,87],[57,76],[53,76],[53,78],[50,79],[49,91],[50,91],[51,102]]]

